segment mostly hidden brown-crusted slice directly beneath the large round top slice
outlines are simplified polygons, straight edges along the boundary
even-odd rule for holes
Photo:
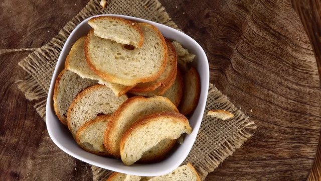
[[[129,90],[130,93],[151,92],[159,86],[166,86],[168,83],[170,83],[170,79],[175,77],[175,73],[177,71],[176,51],[170,40],[165,39],[165,41],[168,49],[168,58],[167,65],[162,75],[154,81],[138,83]]]

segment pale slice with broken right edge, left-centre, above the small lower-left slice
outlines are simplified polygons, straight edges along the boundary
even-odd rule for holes
[[[68,128],[75,137],[78,129],[98,114],[112,114],[127,96],[116,97],[105,85],[93,85],[84,89],[71,103],[68,109]]]

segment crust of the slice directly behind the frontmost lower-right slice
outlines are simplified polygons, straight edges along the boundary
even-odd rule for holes
[[[151,97],[151,98],[163,99],[164,101],[168,101],[169,103],[173,104],[169,99],[164,97]],[[115,151],[115,145],[114,145],[115,141],[111,139],[109,135],[111,134],[112,131],[115,131],[114,129],[115,129],[116,120],[119,118],[122,111],[126,109],[128,106],[130,106],[133,102],[136,102],[137,100],[147,101],[149,99],[150,98],[144,98],[142,96],[135,96],[135,97],[129,98],[125,102],[123,102],[118,107],[118,109],[111,115],[109,126],[106,128],[105,134],[104,134],[104,146],[106,150],[114,157],[119,158],[120,153]],[[176,112],[179,112],[174,104],[173,104],[173,110]]]

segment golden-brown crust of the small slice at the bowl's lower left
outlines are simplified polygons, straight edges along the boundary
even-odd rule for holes
[[[110,119],[110,115],[101,115],[101,116],[97,116],[95,119],[87,121],[84,125],[82,125],[76,132],[75,141],[77,142],[77,144],[87,152],[90,152],[90,153],[93,153],[93,154],[96,154],[96,155],[100,155],[100,156],[109,156],[110,154],[108,153],[107,150],[105,152],[97,152],[97,151],[92,151],[90,149],[87,149],[86,146],[84,146],[82,143],[80,143],[80,138],[79,138],[81,132],[84,129],[86,129],[88,126],[90,126],[90,125],[92,125],[94,123],[100,122],[100,121],[108,120],[108,119]]]

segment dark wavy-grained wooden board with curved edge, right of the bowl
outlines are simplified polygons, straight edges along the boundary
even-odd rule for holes
[[[320,130],[312,48],[289,2],[162,1],[205,48],[211,82],[258,125],[208,180],[304,180]]]

